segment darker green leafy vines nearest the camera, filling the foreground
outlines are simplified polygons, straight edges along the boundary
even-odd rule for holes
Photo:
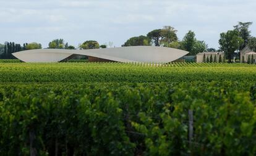
[[[0,84],[0,155],[255,155],[255,100],[230,81]]]

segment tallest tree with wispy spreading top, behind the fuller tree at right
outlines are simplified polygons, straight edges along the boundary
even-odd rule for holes
[[[239,32],[239,36],[244,39],[244,43],[239,46],[239,51],[244,49],[250,39],[250,30],[249,27],[252,25],[252,22],[238,22],[238,25],[234,26],[234,30]]]

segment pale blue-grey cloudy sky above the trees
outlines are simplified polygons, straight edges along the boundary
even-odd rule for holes
[[[41,43],[63,38],[77,47],[86,40],[121,46],[133,36],[171,25],[181,40],[187,31],[218,48],[220,33],[238,21],[254,22],[255,0],[0,0],[0,43]]]

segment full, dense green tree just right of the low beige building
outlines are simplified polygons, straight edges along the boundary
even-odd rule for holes
[[[229,30],[220,34],[220,49],[225,52],[228,62],[231,63],[232,56],[236,50],[244,43],[244,39],[239,36],[239,31]]]

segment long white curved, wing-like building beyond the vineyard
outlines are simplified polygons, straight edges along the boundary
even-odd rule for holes
[[[88,55],[117,62],[168,63],[188,54],[187,51],[169,47],[131,46],[106,49],[67,50],[35,49],[12,53],[23,62],[59,62],[73,54]]]

